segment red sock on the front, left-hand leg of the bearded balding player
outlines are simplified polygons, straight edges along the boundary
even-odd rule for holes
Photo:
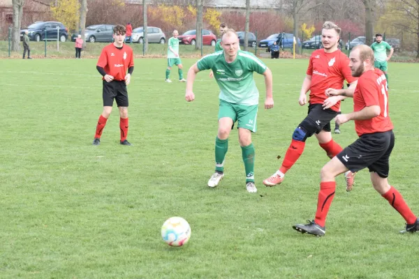
[[[320,192],[318,192],[317,211],[314,222],[316,222],[316,224],[320,225],[321,227],[325,226],[326,216],[328,216],[330,204],[332,204],[332,200],[335,197],[335,189],[335,181],[320,183]]]

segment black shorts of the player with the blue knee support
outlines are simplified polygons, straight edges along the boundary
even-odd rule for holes
[[[323,110],[322,104],[309,105],[307,117],[300,123],[307,133],[307,137],[311,137],[314,133],[318,134],[322,130],[330,132],[330,121],[337,116],[335,110]]]

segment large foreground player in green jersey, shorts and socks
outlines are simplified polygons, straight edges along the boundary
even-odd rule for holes
[[[253,80],[253,72],[265,77],[265,109],[274,106],[272,98],[272,72],[265,64],[250,52],[239,50],[239,39],[233,29],[228,29],[221,36],[223,51],[204,56],[188,71],[185,98],[188,102],[195,99],[193,81],[201,70],[214,72],[219,94],[219,128],[215,139],[215,173],[212,174],[209,187],[215,187],[224,176],[224,158],[228,149],[228,136],[237,121],[239,142],[246,172],[246,188],[249,193],[256,193],[254,179],[255,149],[251,142],[251,132],[256,133],[259,91]]]

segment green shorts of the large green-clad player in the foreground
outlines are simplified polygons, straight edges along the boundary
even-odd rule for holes
[[[256,133],[256,116],[258,116],[258,105],[237,105],[220,100],[219,118],[228,117],[238,121],[237,128],[244,128]]]

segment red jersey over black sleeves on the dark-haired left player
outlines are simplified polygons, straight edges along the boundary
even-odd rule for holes
[[[121,50],[113,43],[107,45],[103,47],[96,66],[102,67],[107,75],[114,77],[114,80],[125,80],[126,70],[134,66],[133,49],[125,44]]]

